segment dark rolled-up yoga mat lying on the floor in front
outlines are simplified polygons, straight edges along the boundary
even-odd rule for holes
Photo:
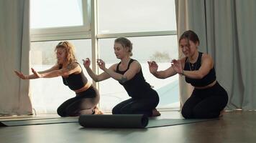
[[[85,114],[78,122],[82,127],[145,128],[148,118],[143,114]]]

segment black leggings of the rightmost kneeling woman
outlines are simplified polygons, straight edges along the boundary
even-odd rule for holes
[[[227,92],[218,82],[208,89],[194,89],[183,105],[181,114],[186,119],[216,118],[228,102]]]

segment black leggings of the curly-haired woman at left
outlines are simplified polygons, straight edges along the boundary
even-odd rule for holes
[[[99,92],[93,86],[76,97],[63,102],[57,109],[61,117],[75,117],[81,114],[93,114],[94,107],[99,103]]]

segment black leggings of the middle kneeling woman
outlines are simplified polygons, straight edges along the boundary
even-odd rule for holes
[[[152,109],[155,109],[159,103],[159,97],[155,90],[145,95],[147,97],[131,98],[117,104],[112,109],[112,114],[145,114],[151,117]]]

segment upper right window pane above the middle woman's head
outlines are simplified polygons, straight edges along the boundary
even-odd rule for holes
[[[174,2],[99,0],[99,34],[176,31]]]

